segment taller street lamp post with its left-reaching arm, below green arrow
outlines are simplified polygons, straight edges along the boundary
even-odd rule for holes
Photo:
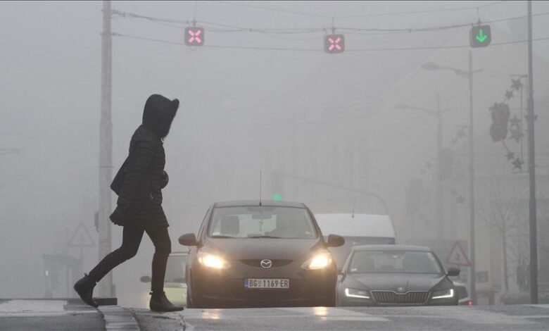
[[[469,275],[469,291],[474,303],[477,303],[477,290],[475,282],[475,252],[474,252],[474,127],[473,127],[473,74],[479,73],[482,69],[473,70],[473,55],[469,51],[469,70],[460,70],[448,66],[437,65],[436,63],[425,63],[422,65],[425,70],[451,70],[460,77],[469,80],[469,259],[471,261]]]

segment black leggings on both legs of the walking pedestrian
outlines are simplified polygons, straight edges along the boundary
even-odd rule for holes
[[[105,277],[105,275],[113,270],[115,266],[134,257],[135,254],[137,254],[137,249],[139,249],[143,232],[147,232],[147,235],[149,235],[153,241],[155,249],[151,291],[157,293],[162,292],[164,289],[166,263],[168,263],[168,256],[172,252],[172,243],[170,242],[170,235],[168,235],[168,227],[142,229],[139,227],[125,226],[124,232],[122,233],[122,246],[105,256],[105,258],[89,272],[88,276],[92,278],[92,280],[99,282],[99,280]]]

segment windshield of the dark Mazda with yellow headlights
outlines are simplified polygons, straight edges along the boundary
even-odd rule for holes
[[[208,236],[313,239],[317,232],[305,208],[238,206],[215,208]]]

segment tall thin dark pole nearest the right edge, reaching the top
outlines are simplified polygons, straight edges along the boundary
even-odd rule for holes
[[[534,148],[534,68],[532,63],[532,1],[528,1],[528,172],[530,180],[530,300],[538,304],[538,225],[536,215],[536,149]]]

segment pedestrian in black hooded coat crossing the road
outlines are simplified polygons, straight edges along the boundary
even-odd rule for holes
[[[151,238],[155,252],[152,263],[152,311],[180,311],[164,293],[164,277],[171,253],[168,220],[162,208],[162,191],[168,184],[164,171],[163,141],[172,125],[179,100],[170,100],[159,94],[149,96],[143,111],[143,123],[135,130],[130,141],[124,180],[120,187],[117,206],[111,221],[123,227],[122,246],[105,256],[89,274],[78,280],[75,291],[90,306],[97,307],[93,290],[97,282],[120,263],[137,254],[144,232]]]

